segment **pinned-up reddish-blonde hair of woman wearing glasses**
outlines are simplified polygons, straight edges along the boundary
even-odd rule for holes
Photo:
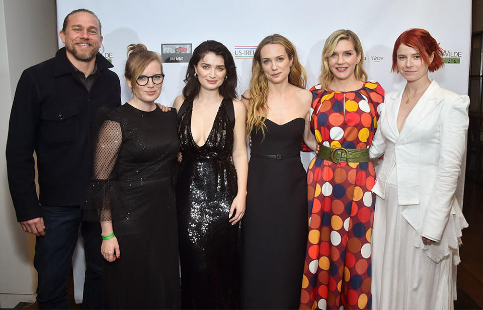
[[[163,73],[162,59],[156,52],[148,50],[146,45],[141,43],[132,43],[127,46],[127,61],[124,76],[131,83],[131,89],[134,94],[136,94],[135,85],[137,85],[137,78],[153,60],[159,61],[161,73]]]

